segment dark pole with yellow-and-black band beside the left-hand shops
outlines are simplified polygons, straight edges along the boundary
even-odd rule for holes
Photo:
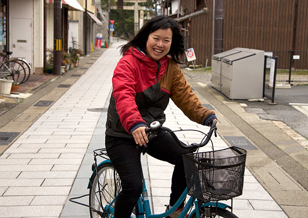
[[[54,0],[54,74],[61,75],[62,1]]]

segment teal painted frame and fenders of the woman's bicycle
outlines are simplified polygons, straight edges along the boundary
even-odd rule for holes
[[[111,163],[111,161],[106,160],[103,161],[100,164],[103,163]],[[91,175],[91,178],[93,176],[95,176],[97,173],[97,168],[95,168],[93,170],[93,173]],[[90,180],[91,180],[90,178]],[[91,183],[88,183],[88,188],[91,186]],[[137,218],[165,218],[167,216],[169,216],[170,214],[172,214],[179,206],[180,204],[184,201],[184,199],[186,199],[187,196],[187,188],[184,190],[184,192],[182,193],[182,195],[180,196],[180,198],[177,200],[177,202],[173,205],[173,207],[171,207],[168,211],[162,213],[162,214],[152,214],[151,212],[151,206],[150,206],[150,201],[149,201],[149,197],[148,197],[148,190],[146,187],[146,180],[143,179],[143,190],[142,190],[142,196],[138,199],[137,201],[137,206],[138,206],[138,216]],[[108,216],[108,218],[113,218],[113,214],[114,214],[114,209],[111,207],[111,205],[114,203],[114,201],[116,200],[116,198],[109,204],[106,205],[104,210],[108,212],[108,214],[110,214],[110,216]],[[178,218],[185,218],[186,214],[189,212],[189,210],[195,206],[195,209],[191,211],[190,215],[193,214],[193,212],[196,212],[197,218],[200,218],[199,215],[199,200],[197,200],[194,197],[190,197],[188,202],[186,203],[185,207],[182,210],[182,213],[180,214],[180,216]],[[221,209],[226,209],[226,208],[231,208],[229,205],[224,204],[224,203],[220,203],[220,202],[207,202],[203,205],[201,205],[201,208],[203,207],[209,207],[209,206],[214,206],[214,207],[219,207]],[[190,218],[191,216],[188,216],[188,218]]]

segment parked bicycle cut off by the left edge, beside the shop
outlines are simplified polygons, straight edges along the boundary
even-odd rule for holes
[[[19,85],[25,83],[30,77],[30,64],[24,58],[20,57],[9,59],[8,55],[10,54],[12,52],[0,53],[2,57],[2,61],[0,62],[0,78],[13,80],[14,83]]]

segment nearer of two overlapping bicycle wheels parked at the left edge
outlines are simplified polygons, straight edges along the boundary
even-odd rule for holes
[[[11,71],[11,74],[5,78],[13,80],[14,83],[21,84],[26,76],[26,70],[23,65],[16,60],[6,60],[3,64],[5,64]],[[3,67],[3,64],[1,67]]]

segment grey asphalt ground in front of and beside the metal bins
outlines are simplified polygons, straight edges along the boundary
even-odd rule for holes
[[[196,82],[206,83],[211,87],[211,72],[204,70],[185,70],[185,74]],[[224,96],[221,92],[218,94]],[[274,103],[271,100],[264,102],[250,102],[247,100],[230,100],[224,96],[227,101],[236,101],[244,103],[247,112],[256,113],[262,119],[282,121],[297,133],[308,139],[308,85],[295,85],[291,89],[275,89]],[[302,104],[302,111],[296,109],[290,104]]]

